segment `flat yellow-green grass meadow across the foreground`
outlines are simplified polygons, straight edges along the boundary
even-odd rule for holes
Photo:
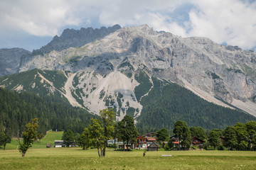
[[[256,152],[230,151],[107,151],[98,157],[95,149],[28,149],[21,157],[16,149],[0,151],[0,169],[255,169]],[[161,157],[172,154],[172,157]]]

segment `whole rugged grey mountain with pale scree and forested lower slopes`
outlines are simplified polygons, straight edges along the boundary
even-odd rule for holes
[[[256,116],[256,53],[208,38],[147,25],[67,29],[33,52],[1,49],[0,61],[6,89],[58,96],[93,114],[112,107],[141,128],[181,119],[221,128]]]

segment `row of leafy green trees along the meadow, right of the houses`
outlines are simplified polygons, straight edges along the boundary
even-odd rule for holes
[[[157,139],[166,139],[168,135],[167,130],[161,129],[156,132]],[[247,123],[236,123],[233,126],[228,126],[223,130],[213,129],[210,130],[208,136],[206,131],[201,127],[188,128],[186,122],[178,120],[174,124],[173,130],[175,136],[178,138],[178,149],[186,149],[191,147],[192,137],[198,137],[204,140],[204,149],[230,149],[230,150],[256,150],[256,121],[250,121]],[[166,140],[168,141],[168,140]],[[172,141],[169,140],[171,143]],[[169,144],[166,149],[172,149],[174,145]]]

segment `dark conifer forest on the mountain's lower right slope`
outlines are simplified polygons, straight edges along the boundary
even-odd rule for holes
[[[142,114],[137,128],[140,133],[166,128],[169,131],[178,120],[188,126],[204,129],[225,128],[235,123],[245,123],[256,118],[247,113],[215,105],[177,84],[152,77],[154,88],[142,98]]]

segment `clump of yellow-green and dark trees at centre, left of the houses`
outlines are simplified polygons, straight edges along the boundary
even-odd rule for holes
[[[138,132],[134,125],[134,119],[129,115],[125,115],[121,121],[115,123],[114,115],[115,113],[112,111],[112,108],[105,108],[100,111],[100,118],[92,118],[90,125],[78,137],[77,144],[82,149],[87,149],[88,147],[97,148],[99,157],[105,157],[107,140],[117,137],[119,141],[124,142],[124,146],[125,142],[127,145],[131,142],[135,144]],[[74,142],[74,137],[70,130],[63,133],[63,140],[65,143],[70,140]]]

